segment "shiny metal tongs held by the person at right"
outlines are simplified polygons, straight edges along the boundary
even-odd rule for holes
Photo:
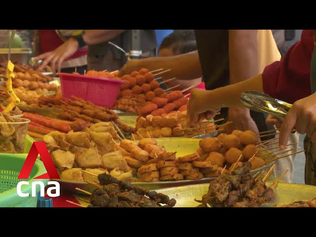
[[[281,100],[272,98],[271,96],[254,90],[244,91],[240,95],[240,101],[247,108],[264,112],[283,119],[292,105]]]

